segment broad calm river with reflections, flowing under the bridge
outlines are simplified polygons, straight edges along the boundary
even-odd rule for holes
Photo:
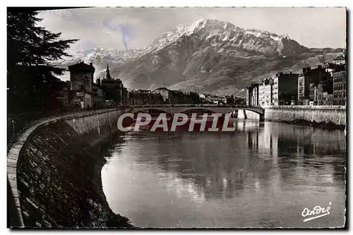
[[[130,132],[102,168],[109,206],[137,227],[345,224],[345,133],[234,120],[236,131]],[[329,215],[303,222],[304,208]]]

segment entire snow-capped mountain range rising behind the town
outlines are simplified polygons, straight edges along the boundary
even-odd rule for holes
[[[92,61],[95,76],[109,63],[111,74],[128,88],[196,90],[239,95],[242,88],[277,71],[299,71],[337,55],[333,49],[309,49],[288,35],[246,30],[220,20],[179,25],[143,49],[87,49],[62,60],[67,66]],[[243,92],[244,93],[244,92]]]

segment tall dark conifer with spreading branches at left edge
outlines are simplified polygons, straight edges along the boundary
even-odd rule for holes
[[[69,56],[65,51],[77,40],[59,40],[37,25],[37,12],[8,11],[7,15],[7,87],[8,112],[28,112],[55,107],[64,68],[50,61]],[[54,92],[54,93],[53,93]]]

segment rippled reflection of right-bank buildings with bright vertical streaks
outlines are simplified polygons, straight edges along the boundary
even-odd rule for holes
[[[308,157],[313,159],[313,155],[344,154],[345,145],[342,145],[339,138],[328,138],[330,134],[323,130],[313,132],[309,128],[280,123],[265,123],[263,128],[247,133],[247,146],[256,152],[250,164],[255,166],[253,171],[259,177],[258,181],[272,177],[271,181],[275,187],[274,183],[279,183],[277,179],[300,179],[301,176],[309,174],[306,169],[313,166],[327,173],[322,176],[321,182],[330,183],[341,177],[339,174],[333,174],[332,166],[327,165],[332,162],[321,164],[323,159],[316,159],[316,163],[308,160]],[[272,164],[268,164],[269,161]],[[304,169],[304,166],[309,168]]]

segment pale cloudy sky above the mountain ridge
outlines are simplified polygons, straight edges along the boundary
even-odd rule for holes
[[[40,25],[78,39],[70,51],[138,49],[177,25],[200,18],[289,35],[305,47],[345,47],[345,8],[74,8],[41,11]]]

